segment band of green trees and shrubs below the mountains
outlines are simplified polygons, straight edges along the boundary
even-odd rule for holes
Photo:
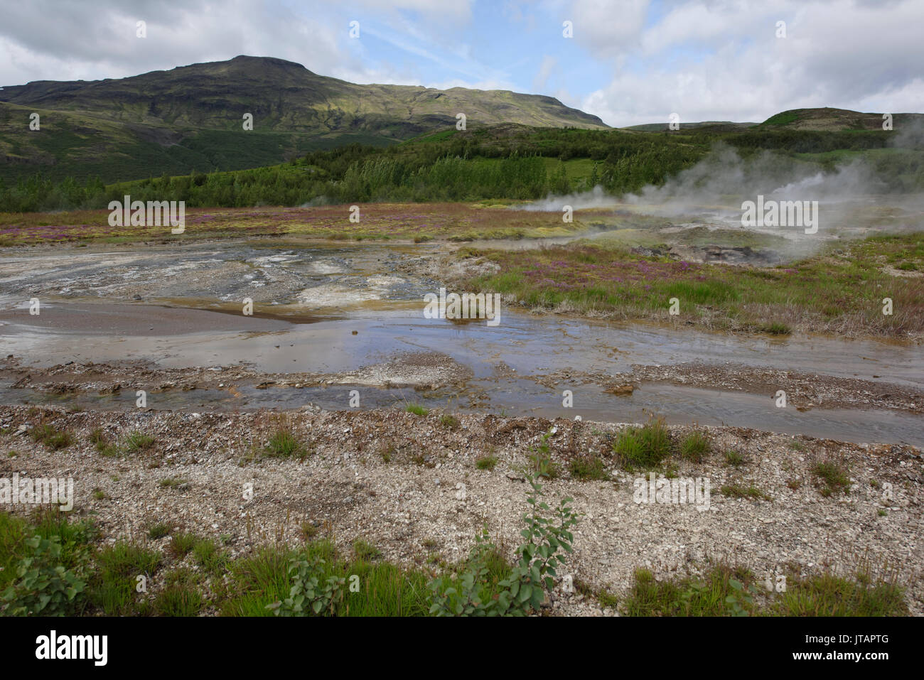
[[[906,140],[906,146],[896,145]],[[191,207],[363,201],[535,200],[600,186],[611,193],[660,185],[707,158],[717,144],[749,164],[752,186],[781,186],[860,160],[881,188],[924,191],[924,145],[882,130],[840,132],[757,126],[676,132],[530,128],[505,124],[448,128],[376,147],[348,144],[285,164],[213,173],[152,176],[104,186],[79,177],[4,183],[0,212],[104,208],[135,200],[185,200]],[[772,188],[771,187],[771,188]],[[728,187],[729,191],[734,188]],[[877,189],[880,190],[880,189]]]

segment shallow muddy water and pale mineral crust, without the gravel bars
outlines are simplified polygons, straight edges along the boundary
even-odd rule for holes
[[[580,415],[640,421],[647,412],[699,422],[805,433],[860,442],[924,444],[924,419],[875,410],[777,409],[772,395],[693,389],[665,383],[635,394],[533,378],[561,370],[614,374],[635,364],[732,362],[924,388],[924,352],[915,346],[829,337],[775,340],[638,323],[538,317],[503,310],[500,323],[424,319],[422,296],[438,282],[400,266],[432,244],[228,242],[127,252],[71,250],[0,259],[0,352],[24,364],[151,360],[164,368],[248,364],[267,372],[340,372],[406,352],[439,352],[468,367],[460,394],[361,388],[362,407],[405,401],[508,415]],[[407,272],[411,273],[407,273]],[[252,274],[252,275],[251,275]],[[134,297],[140,297],[140,300]],[[39,316],[25,300],[43,300]],[[254,299],[245,317],[239,301]],[[159,304],[158,304],[159,303]],[[561,407],[562,390],[574,407]],[[348,387],[194,390],[149,395],[149,406],[186,410],[347,407]],[[0,401],[36,402],[30,390],[0,385]],[[79,395],[68,403],[130,408],[133,398]]]

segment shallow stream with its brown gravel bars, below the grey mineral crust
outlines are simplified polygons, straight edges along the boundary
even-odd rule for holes
[[[413,306],[250,317],[55,301],[38,316],[0,312],[0,401],[112,410],[136,407],[143,390],[146,407],[169,410],[416,403],[610,422],[653,413],[678,424],[924,445],[917,346],[509,311],[503,321],[426,320]]]

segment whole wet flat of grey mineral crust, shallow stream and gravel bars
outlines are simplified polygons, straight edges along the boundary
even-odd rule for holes
[[[691,224],[651,228],[694,242],[703,227]],[[356,390],[361,409],[417,403],[609,422],[653,413],[924,445],[924,352],[913,343],[738,336],[506,306],[496,327],[424,319],[424,295],[491,271],[457,258],[458,247],[277,237],[7,249],[0,403],[117,410],[135,408],[144,390],[153,409],[339,409],[356,407]],[[41,314],[30,314],[33,297]]]

